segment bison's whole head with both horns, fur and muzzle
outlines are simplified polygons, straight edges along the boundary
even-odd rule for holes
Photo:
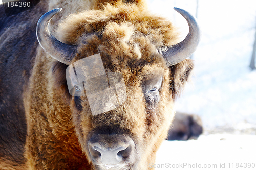
[[[37,38],[41,47],[58,60],[53,62],[54,93],[69,105],[70,110],[62,114],[72,119],[69,123],[79,141],[74,147],[82,150],[92,168],[147,169],[167,136],[174,117],[174,99],[193,67],[186,58],[199,42],[195,19],[175,8],[186,18],[190,30],[177,43],[178,34],[166,19],[135,4],[107,4],[103,10],[84,11],[62,20],[55,30],[57,40],[48,24],[60,10],[40,18]],[[65,76],[69,65],[95,54],[100,54],[106,74],[122,75],[126,91],[122,104],[97,115],[92,114],[87,95],[90,91],[81,87],[84,82],[74,90],[85,95],[72,96],[67,79],[73,77]],[[103,101],[104,97],[93,96]]]

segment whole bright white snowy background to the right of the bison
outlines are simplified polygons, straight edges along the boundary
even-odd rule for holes
[[[149,2],[151,11],[172,20],[185,38],[187,23],[173,7],[195,15],[197,0]],[[177,100],[176,110],[201,116],[205,132],[198,140],[164,141],[155,165],[148,166],[159,166],[156,169],[256,169],[256,71],[249,69],[256,1],[198,2],[202,39],[193,56],[194,76]],[[182,166],[183,163],[187,166]]]

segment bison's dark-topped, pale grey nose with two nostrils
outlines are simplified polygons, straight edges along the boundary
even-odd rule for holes
[[[94,135],[88,143],[89,151],[96,164],[119,166],[132,161],[135,144],[124,135]]]

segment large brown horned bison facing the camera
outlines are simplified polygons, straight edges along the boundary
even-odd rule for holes
[[[0,168],[149,169],[193,68],[195,19],[175,8],[179,42],[144,0],[0,10]]]

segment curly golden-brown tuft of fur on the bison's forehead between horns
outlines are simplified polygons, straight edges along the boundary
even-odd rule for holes
[[[123,2],[71,14],[57,30],[59,40],[78,45],[82,57],[98,51],[112,58],[146,59],[156,55],[157,48],[176,44],[177,35],[165,18],[150,14],[141,5]]]

